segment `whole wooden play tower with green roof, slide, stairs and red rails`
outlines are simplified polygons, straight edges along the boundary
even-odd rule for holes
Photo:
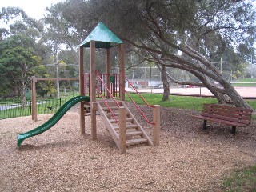
[[[118,46],[119,52],[119,74],[110,74],[110,48]],[[90,48],[90,74],[84,72],[84,47]],[[96,66],[96,49],[106,49],[106,74],[98,74],[95,70]],[[88,37],[80,45],[80,63],[79,63],[79,92],[81,96],[70,99],[64,104],[64,108],[58,110],[56,114],[48,122],[30,130],[24,134],[18,135],[18,146],[26,138],[40,134],[49,130],[56,122],[76,103],[79,105],[80,114],[80,132],[86,134],[85,130],[85,107],[90,101],[90,125],[91,125],[91,138],[97,139],[97,126],[96,126],[96,111],[101,114],[103,122],[114,142],[118,146],[120,153],[126,153],[126,146],[133,146],[138,144],[146,144],[150,146],[159,145],[159,131],[160,131],[160,106],[150,106],[138,90],[134,88],[128,78],[125,76],[124,58],[125,48],[123,42],[113,34],[104,24],[98,23],[98,26],[88,35]],[[125,90],[125,82],[128,81],[135,92],[142,98],[145,104],[153,110],[153,121],[150,122],[146,115],[142,113],[139,106],[130,97],[130,94]],[[87,85],[90,85],[87,89]],[[33,85],[32,85],[33,87]],[[35,87],[35,86],[34,86]],[[88,90],[88,91],[87,91]],[[35,91],[34,91],[35,93]],[[87,96],[89,94],[89,96]],[[150,137],[139,125],[138,121],[126,106],[125,97],[130,98],[135,107],[146,119],[146,122],[153,126],[152,141]],[[35,97],[35,96],[33,96]],[[102,99],[96,100],[96,97]],[[34,108],[33,108],[34,110]]]

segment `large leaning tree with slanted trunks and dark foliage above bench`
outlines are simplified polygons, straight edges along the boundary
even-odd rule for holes
[[[214,66],[219,54],[244,45],[253,50],[255,10],[248,1],[113,0],[79,3],[79,19],[90,26],[105,22],[119,37],[137,48],[142,58],[162,66],[186,70],[200,82],[173,82],[206,86],[220,103],[250,106]],[[74,6],[75,7],[75,6]],[[82,9],[90,10],[82,13]],[[78,26],[78,20],[75,20]],[[81,26],[84,21],[81,21]],[[216,83],[218,82],[218,83]]]

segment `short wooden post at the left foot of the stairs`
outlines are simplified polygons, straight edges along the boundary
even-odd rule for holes
[[[126,108],[119,109],[119,150],[121,154],[126,153]]]

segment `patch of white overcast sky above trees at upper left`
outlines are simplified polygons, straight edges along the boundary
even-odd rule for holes
[[[46,6],[51,6],[64,0],[0,0],[0,7],[18,6],[31,18],[43,18]]]

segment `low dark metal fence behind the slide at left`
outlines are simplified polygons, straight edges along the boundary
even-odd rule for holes
[[[39,100],[37,102],[38,114],[54,114],[62,106],[62,98]],[[31,115],[32,102],[0,102],[0,119],[16,118]]]

